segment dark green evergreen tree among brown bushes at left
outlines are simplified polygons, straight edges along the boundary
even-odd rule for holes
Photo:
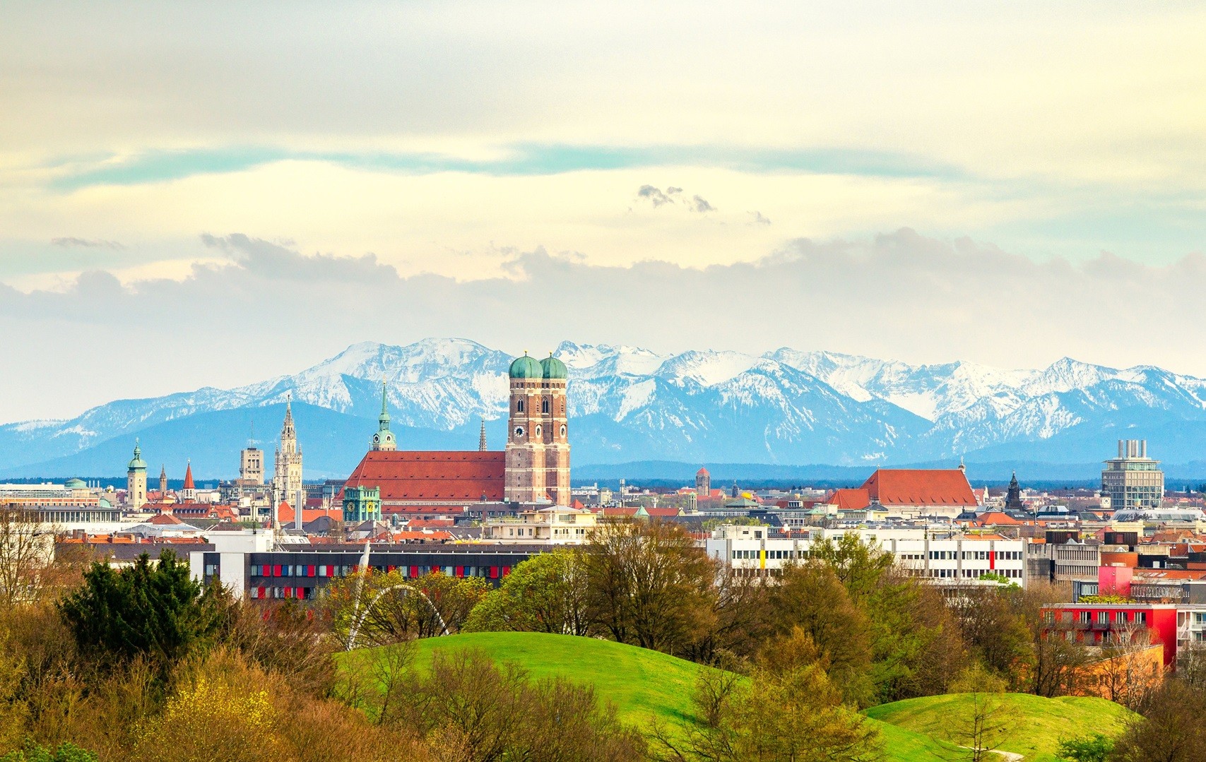
[[[94,563],[58,605],[83,653],[105,663],[146,656],[166,669],[213,640],[229,599],[219,586],[203,590],[165,550],[158,563],[147,553],[124,569]]]

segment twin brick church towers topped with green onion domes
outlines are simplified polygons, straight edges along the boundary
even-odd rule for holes
[[[510,368],[505,499],[569,505],[566,364],[550,354],[516,358]]]

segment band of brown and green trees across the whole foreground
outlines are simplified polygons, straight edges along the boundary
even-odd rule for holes
[[[853,535],[814,544],[772,580],[709,559],[677,524],[617,522],[494,588],[364,573],[314,602],[268,604],[203,587],[171,551],[115,569],[63,547],[0,598],[4,762],[871,761],[883,742],[861,709],[965,690],[1075,693],[1087,658],[1041,637],[1041,608],[1066,590],[944,596]],[[486,631],[695,661],[706,668],[692,716],[631,727],[572,679],[533,679],[473,650],[417,663],[408,645]],[[341,655],[350,646],[390,647]],[[1159,691],[1120,680],[1116,698],[1142,719],[1119,739],[1070,739],[1066,758],[1129,762],[1171,738],[1182,740],[1153,758],[1204,758],[1201,675],[1187,661]],[[980,705],[968,739],[994,727],[993,699]]]

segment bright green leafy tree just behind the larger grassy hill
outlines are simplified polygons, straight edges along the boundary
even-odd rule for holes
[[[466,632],[549,632],[585,635],[586,570],[578,549],[558,549],[517,564],[474,606]]]

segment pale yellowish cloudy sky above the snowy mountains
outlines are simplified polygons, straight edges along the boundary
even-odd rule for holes
[[[0,422],[463,336],[1206,376],[1189,2],[24,2]]]

